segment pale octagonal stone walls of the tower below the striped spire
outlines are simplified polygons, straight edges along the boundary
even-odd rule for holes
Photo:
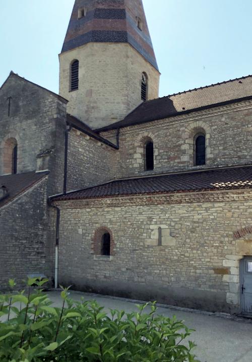
[[[70,67],[79,60],[79,89],[70,91]],[[88,43],[59,55],[59,94],[68,113],[100,128],[121,120],[141,101],[142,72],[148,98],[158,97],[159,72],[128,43]]]

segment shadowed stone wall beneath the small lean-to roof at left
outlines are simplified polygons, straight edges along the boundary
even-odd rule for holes
[[[0,209],[0,290],[7,289],[10,278],[18,286],[28,274],[51,278],[47,178]]]

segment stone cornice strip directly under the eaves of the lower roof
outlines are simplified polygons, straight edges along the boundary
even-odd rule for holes
[[[60,209],[82,209],[100,207],[142,206],[162,204],[192,204],[207,202],[235,202],[252,200],[252,190],[226,190],[204,192],[162,193],[146,195],[127,195],[80,200],[53,201]]]

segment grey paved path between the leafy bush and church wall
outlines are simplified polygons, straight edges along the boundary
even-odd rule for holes
[[[62,304],[60,293],[48,292],[55,305]],[[71,298],[80,300],[96,299],[106,309],[136,310],[133,301],[91,293],[71,291]],[[185,325],[196,330],[190,337],[197,343],[195,354],[201,362],[252,362],[252,321],[243,318],[228,318],[214,313],[192,311],[185,308],[159,307],[159,314],[183,320]]]

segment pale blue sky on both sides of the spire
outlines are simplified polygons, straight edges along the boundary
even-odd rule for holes
[[[143,0],[160,97],[252,73],[251,0]],[[0,83],[13,70],[58,92],[74,0],[0,0]]]

